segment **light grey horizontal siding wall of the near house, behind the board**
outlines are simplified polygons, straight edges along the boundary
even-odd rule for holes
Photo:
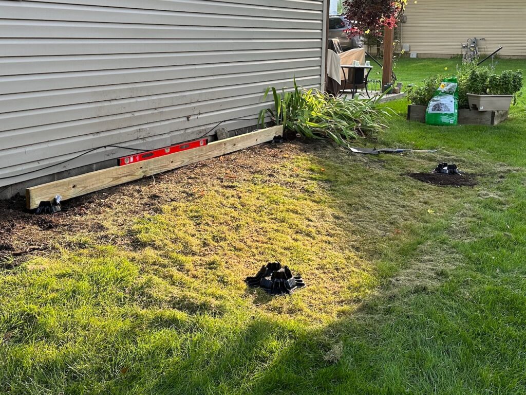
[[[0,0],[0,196],[133,152],[105,145],[151,150],[221,121],[255,125],[266,87],[294,76],[322,86],[324,5]]]

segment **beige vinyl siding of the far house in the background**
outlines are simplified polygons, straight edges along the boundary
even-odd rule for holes
[[[469,37],[481,53],[503,46],[503,56],[526,56],[526,0],[410,0],[402,43],[422,55],[457,55]]]

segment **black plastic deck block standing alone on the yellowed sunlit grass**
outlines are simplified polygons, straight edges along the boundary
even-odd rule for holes
[[[288,266],[271,262],[262,266],[254,277],[245,280],[250,288],[260,287],[271,295],[291,295],[299,288],[305,287],[300,275],[293,276]]]

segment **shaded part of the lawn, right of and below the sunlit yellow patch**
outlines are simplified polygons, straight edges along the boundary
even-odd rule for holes
[[[424,149],[446,139],[456,150],[469,150],[462,158],[468,169],[490,157],[524,164],[517,155],[522,142],[505,147],[522,133],[516,122],[509,130],[491,131],[491,136],[510,131],[513,136],[489,153],[492,137],[481,128],[429,136],[406,122],[398,127],[393,141],[402,137]],[[526,256],[519,222],[526,214],[524,170],[504,180],[487,177],[474,190],[446,191],[402,180],[400,169],[428,171],[444,155],[458,158],[459,153],[351,161],[329,155],[317,150],[295,166],[306,169],[302,177],[326,186],[337,208],[333,218],[356,235],[351,248],[375,264],[378,293],[362,295],[358,308],[321,325],[251,315],[199,363],[190,361],[200,351],[191,352],[151,392],[523,393],[526,273],[521,262]],[[495,202],[487,196],[496,196]],[[505,199],[515,199],[515,205],[503,206]],[[256,305],[270,302],[264,293],[254,299]]]

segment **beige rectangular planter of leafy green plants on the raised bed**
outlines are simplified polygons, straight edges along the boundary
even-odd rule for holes
[[[522,71],[492,74],[486,67],[473,68],[467,78],[469,108],[478,111],[508,111],[522,88]]]

